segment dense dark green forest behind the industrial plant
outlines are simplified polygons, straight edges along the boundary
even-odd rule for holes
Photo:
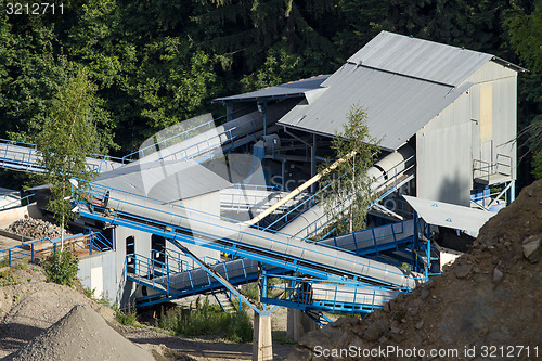
[[[17,1],[31,4],[31,1]],[[498,55],[518,80],[518,130],[542,119],[542,0],[65,0],[0,14],[0,138],[34,143],[53,96],[85,67],[96,86],[92,152],[122,156],[231,95],[331,74],[380,30]],[[63,4],[60,8],[60,4]],[[62,9],[62,13],[60,12]],[[518,140],[519,186],[542,152]],[[25,175],[0,171],[20,189]]]

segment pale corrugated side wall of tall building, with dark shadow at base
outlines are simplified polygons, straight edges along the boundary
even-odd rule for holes
[[[470,100],[465,93],[416,133],[420,198],[469,206],[470,121]]]

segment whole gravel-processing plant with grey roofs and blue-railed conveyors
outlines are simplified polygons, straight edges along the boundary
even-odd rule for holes
[[[383,31],[332,75],[216,99],[220,121],[198,118],[124,158],[89,159],[101,176],[74,182],[74,211],[79,227],[108,230],[112,250],[81,259],[82,282],[121,305],[153,305],[224,288],[238,298],[232,285],[263,274],[291,285],[289,298],[262,291],[268,304],[307,313],[379,308],[438,273],[424,227],[476,234],[489,210],[514,199],[522,70]],[[377,202],[371,229],[332,237],[317,183],[271,207],[317,176],[356,105],[380,140],[370,169]],[[39,171],[35,150],[1,146],[1,166]],[[476,208],[468,215],[479,221],[461,218],[461,207]]]

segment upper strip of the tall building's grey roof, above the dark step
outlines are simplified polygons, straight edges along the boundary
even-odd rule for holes
[[[348,62],[456,87],[492,59],[491,54],[382,31]]]

